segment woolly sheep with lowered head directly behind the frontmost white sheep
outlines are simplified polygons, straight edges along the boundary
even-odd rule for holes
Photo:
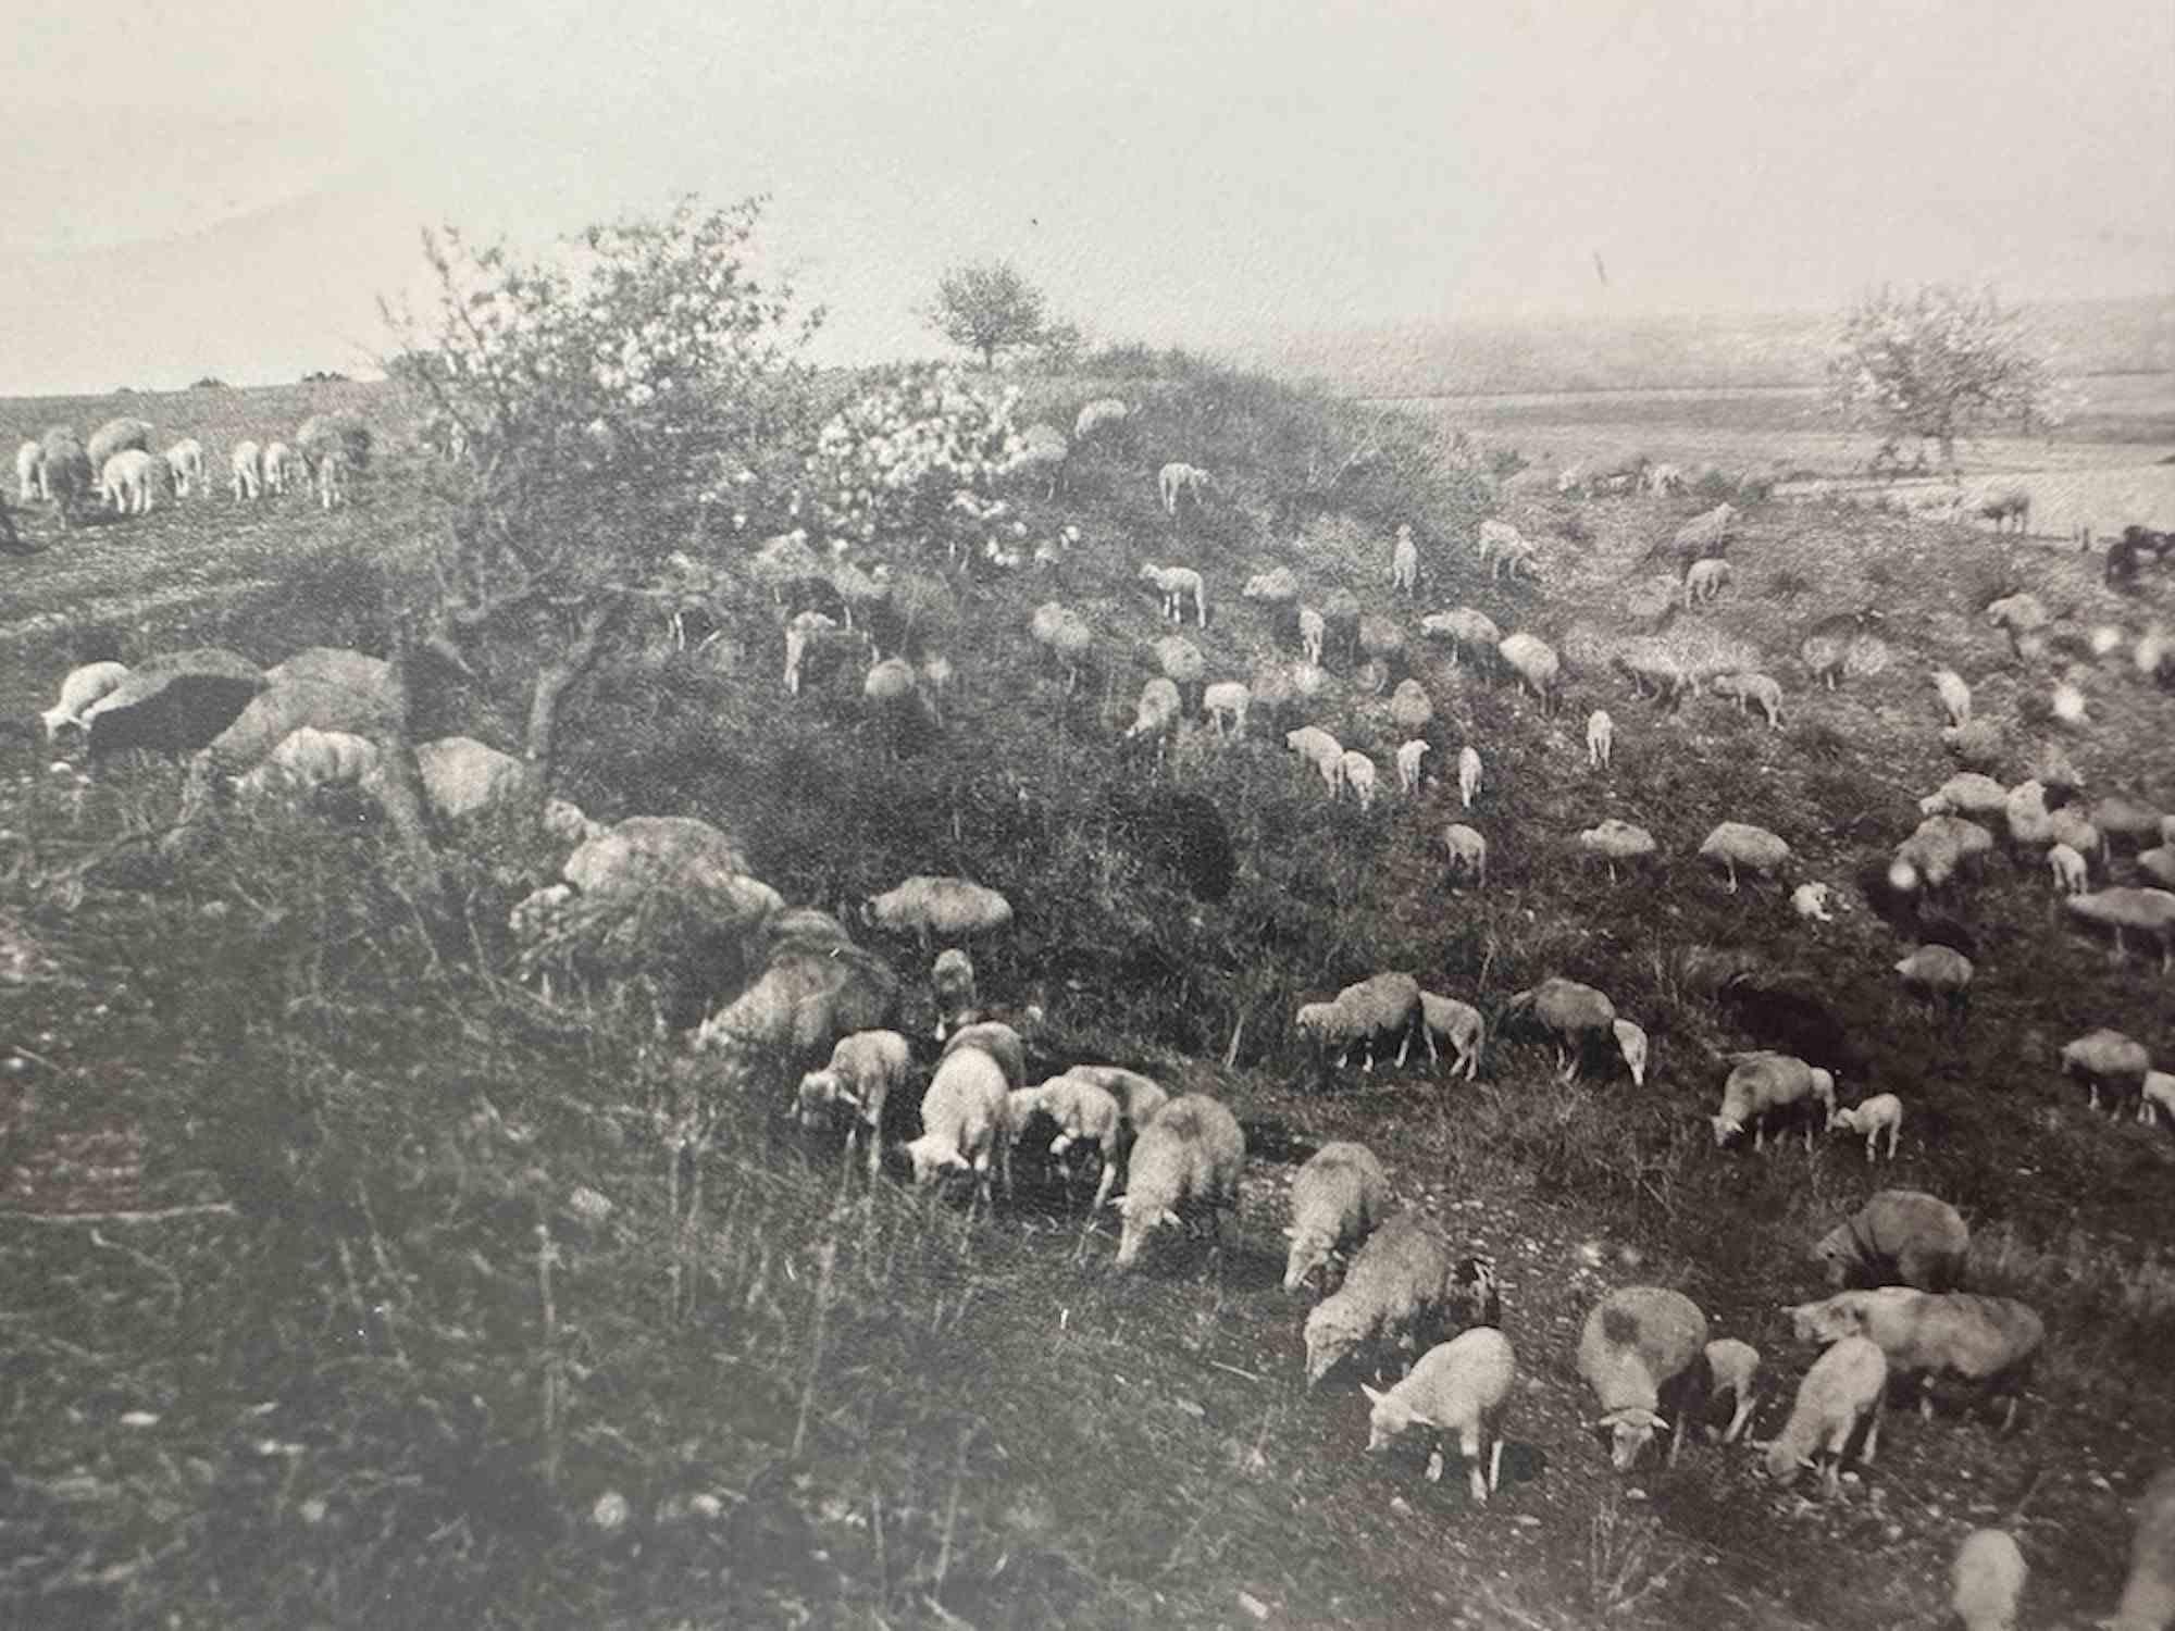
[[[1457,1257],[1440,1224],[1405,1209],[1368,1235],[1344,1283],[1307,1313],[1307,1385],[1366,1346],[1425,1353],[1462,1327],[1501,1322],[1494,1263]]]

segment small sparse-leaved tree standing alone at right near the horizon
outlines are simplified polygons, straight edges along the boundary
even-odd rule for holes
[[[1827,359],[1827,398],[1844,426],[1877,433],[1881,452],[1931,441],[1949,472],[1962,439],[2058,422],[2053,374],[2021,313],[1992,289],[1951,283],[1884,287],[1851,307]]]

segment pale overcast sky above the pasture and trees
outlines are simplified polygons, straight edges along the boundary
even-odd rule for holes
[[[418,228],[768,191],[822,352],[2175,291],[2168,0],[198,0],[0,54],[0,394],[357,372]],[[1599,267],[1596,267],[1599,257]],[[1605,281],[1601,274],[1605,267]]]

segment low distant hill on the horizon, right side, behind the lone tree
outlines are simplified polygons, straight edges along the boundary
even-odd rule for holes
[[[2029,307],[2066,374],[2175,372],[2175,296]],[[1470,320],[1314,331],[1229,348],[1357,396],[1816,385],[1836,315]]]

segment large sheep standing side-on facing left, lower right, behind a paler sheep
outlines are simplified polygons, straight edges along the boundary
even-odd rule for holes
[[[2016,1396],[2047,1340],[2044,1320],[2014,1298],[1936,1294],[1910,1285],[1836,1292],[1820,1303],[1799,1303],[1788,1313],[1799,1342],[1855,1335],[1879,1344],[1890,1370],[1918,1377],[1921,1416],[1934,1414],[1936,1374],[1986,1383],[1988,1394],[2008,1400],[2003,1431],[2016,1424]]]

